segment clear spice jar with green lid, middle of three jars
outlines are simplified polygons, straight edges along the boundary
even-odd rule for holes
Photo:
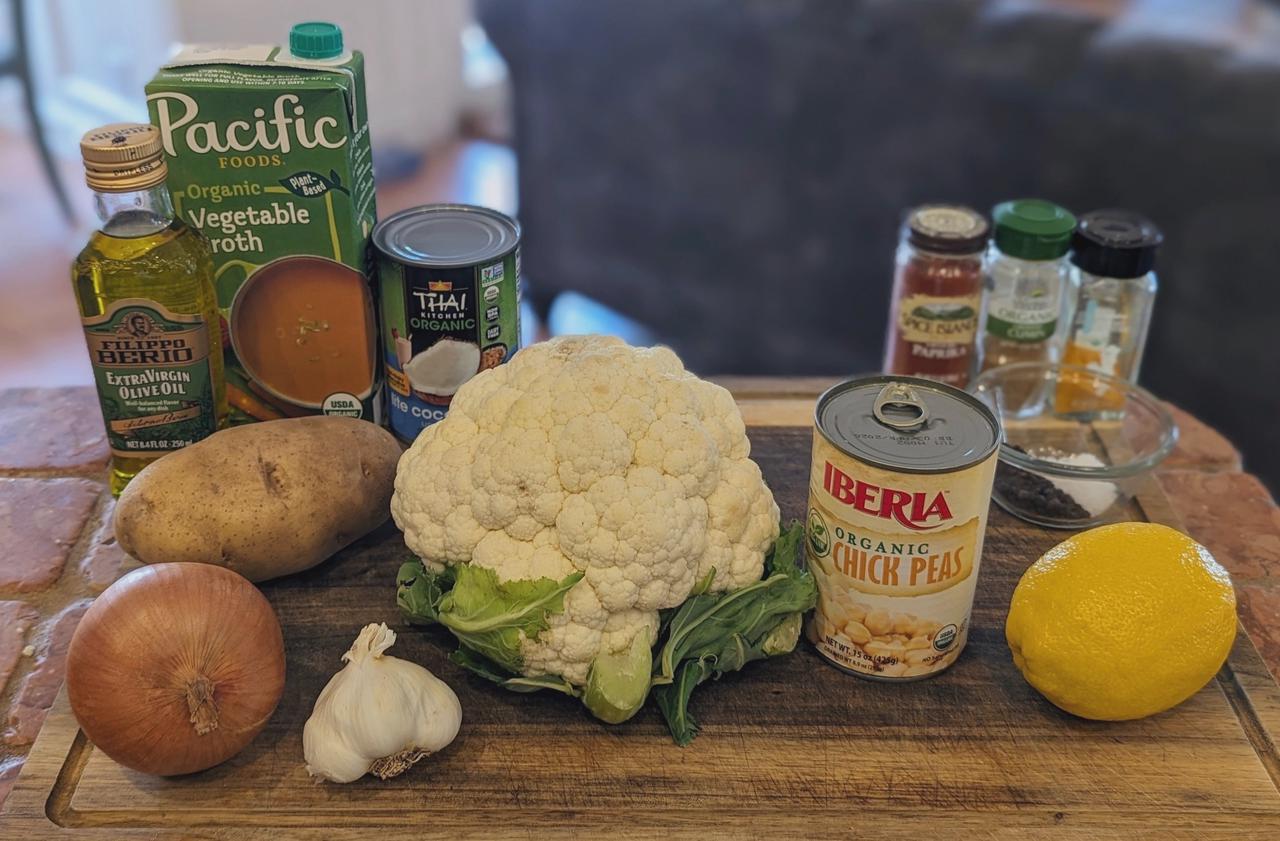
[[[1039,198],[1002,202],[991,216],[982,370],[1056,362],[1075,216]]]

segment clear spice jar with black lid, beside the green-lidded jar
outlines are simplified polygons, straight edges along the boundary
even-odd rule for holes
[[[1160,229],[1129,210],[1094,210],[1080,218],[1071,242],[1074,314],[1062,361],[1137,381],[1156,302]],[[1076,394],[1057,389],[1057,410],[1071,411]],[[1096,398],[1089,398],[1096,403]]]

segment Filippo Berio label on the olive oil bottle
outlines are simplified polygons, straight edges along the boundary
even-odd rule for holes
[[[124,298],[83,325],[115,456],[163,456],[218,429],[209,326],[198,314]]]

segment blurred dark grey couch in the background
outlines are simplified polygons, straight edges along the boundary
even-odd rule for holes
[[[869,371],[902,209],[1134,207],[1167,243],[1142,381],[1280,485],[1280,47],[1221,10],[477,5],[544,305],[582,291],[701,372]]]

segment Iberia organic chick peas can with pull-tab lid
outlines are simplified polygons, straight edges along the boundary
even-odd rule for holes
[[[835,666],[918,680],[960,655],[1000,439],[986,406],[924,379],[855,379],[818,399],[808,636]]]

